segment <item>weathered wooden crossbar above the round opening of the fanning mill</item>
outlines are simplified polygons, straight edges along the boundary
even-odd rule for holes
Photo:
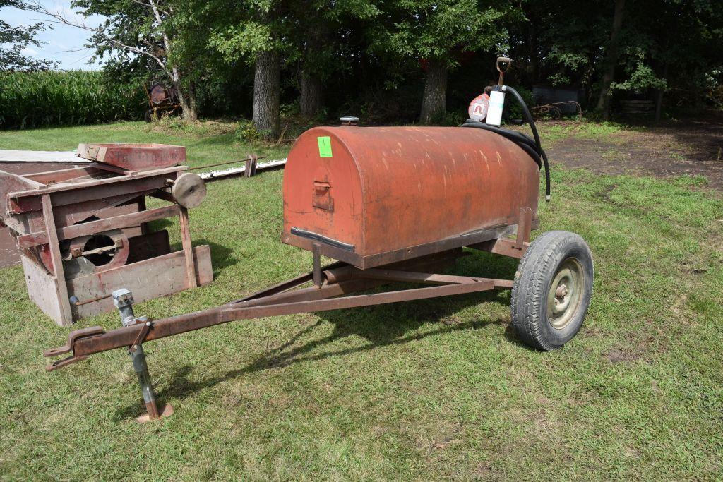
[[[112,229],[128,228],[129,226],[147,223],[148,221],[171,218],[171,216],[178,215],[179,212],[179,206],[172,205],[65,226],[64,228],[59,228],[58,239],[63,241],[64,239],[80,238],[81,236],[89,236],[90,234],[102,233],[103,231],[111,231]],[[31,246],[40,246],[41,244],[48,244],[47,231],[38,231],[37,233],[24,234],[17,237],[17,245],[20,246],[20,248],[30,248]]]

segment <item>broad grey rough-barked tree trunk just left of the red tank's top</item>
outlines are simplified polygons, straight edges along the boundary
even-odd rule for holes
[[[263,137],[277,139],[281,134],[279,116],[279,72],[278,52],[265,51],[256,56],[254,73],[254,126]]]

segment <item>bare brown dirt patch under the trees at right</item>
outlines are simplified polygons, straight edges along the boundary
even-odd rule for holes
[[[705,176],[723,192],[723,121],[690,121],[615,134],[609,139],[574,137],[547,149],[550,162],[604,174],[660,177]]]

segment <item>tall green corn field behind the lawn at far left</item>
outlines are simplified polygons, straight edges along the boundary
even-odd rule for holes
[[[142,85],[113,85],[102,72],[0,73],[0,129],[142,119]]]

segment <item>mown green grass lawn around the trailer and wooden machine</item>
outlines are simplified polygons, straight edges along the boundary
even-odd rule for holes
[[[0,132],[0,149],[174,142],[194,165],[288,150],[205,129]],[[609,135],[605,126],[548,130],[549,142]],[[20,267],[1,270],[1,477],[721,478],[723,201],[697,177],[552,165],[538,233],[581,234],[596,272],[581,332],[550,353],[515,338],[507,291],[234,322],[147,344],[158,396],[176,413],[139,426],[128,356],[115,350],[46,373],[42,350],[68,330],[27,300]],[[311,255],[279,241],[282,178],[210,184],[191,226],[194,244],[211,246],[214,282],[136,313],[208,308],[307,271]],[[515,261],[474,252],[454,272],[513,277]],[[118,327],[118,315],[76,328],[98,324]]]

